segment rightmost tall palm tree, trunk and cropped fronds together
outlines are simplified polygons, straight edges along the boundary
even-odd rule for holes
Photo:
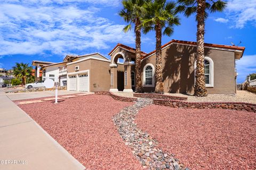
[[[197,21],[197,49],[196,49],[196,84],[195,96],[206,96],[207,90],[205,87],[204,77],[204,33],[205,33],[205,19],[208,12],[222,12],[227,6],[227,2],[221,0],[178,0],[180,4],[176,12],[183,12],[185,16],[190,16],[196,13]]]

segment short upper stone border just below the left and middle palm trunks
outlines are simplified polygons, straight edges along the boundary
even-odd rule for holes
[[[143,97],[143,98],[151,98],[151,99],[172,99],[172,100],[187,100],[187,97],[178,97],[178,96],[171,96],[171,95],[162,95],[162,94],[133,94],[134,97]]]

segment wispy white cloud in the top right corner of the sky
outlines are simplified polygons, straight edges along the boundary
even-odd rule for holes
[[[244,28],[248,22],[256,24],[255,0],[229,0],[226,11],[228,19],[235,23],[235,28]]]

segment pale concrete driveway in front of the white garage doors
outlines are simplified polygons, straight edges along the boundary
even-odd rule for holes
[[[80,94],[80,93],[88,93],[88,92],[58,90],[58,95],[71,95],[71,94]],[[6,94],[6,96],[9,97],[11,100],[34,99],[34,98],[55,96],[55,91],[8,93]]]

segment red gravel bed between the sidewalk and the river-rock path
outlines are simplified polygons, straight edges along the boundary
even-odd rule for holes
[[[133,103],[89,95],[19,105],[60,145],[89,169],[142,169],[125,146],[112,117]]]

